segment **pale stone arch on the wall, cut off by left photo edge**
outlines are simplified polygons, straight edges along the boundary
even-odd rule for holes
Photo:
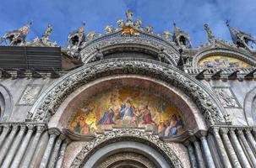
[[[0,108],[0,121],[8,121],[12,113],[12,98],[3,85],[0,85]]]

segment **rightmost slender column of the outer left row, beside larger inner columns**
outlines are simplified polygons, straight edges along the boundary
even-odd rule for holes
[[[23,165],[21,167],[29,167],[30,166],[30,162],[34,156],[35,153],[35,149],[37,148],[37,144],[39,142],[39,139],[41,138],[41,134],[42,132],[45,130],[45,126],[44,125],[38,125],[36,127],[36,133],[35,133],[35,137],[32,141],[32,144],[27,152],[27,154],[25,155],[25,160],[23,161]]]

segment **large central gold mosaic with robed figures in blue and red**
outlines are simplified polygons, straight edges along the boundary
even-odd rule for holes
[[[69,120],[79,134],[94,134],[113,128],[143,128],[160,136],[184,132],[179,110],[157,94],[135,88],[113,88],[80,103]]]

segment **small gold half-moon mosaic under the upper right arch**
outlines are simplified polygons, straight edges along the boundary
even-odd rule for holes
[[[248,63],[223,55],[214,55],[199,61],[201,68],[247,68],[251,67]]]

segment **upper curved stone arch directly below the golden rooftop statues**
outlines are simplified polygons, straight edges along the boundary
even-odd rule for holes
[[[166,54],[166,60],[172,65],[177,66],[177,61],[179,59],[179,54],[177,47],[172,45],[170,42],[159,39],[157,37],[150,37],[146,35],[144,37],[115,37],[114,39],[97,39],[89,45],[84,46],[81,50],[81,60],[86,64],[95,56],[96,50],[101,49],[103,52],[108,50],[120,50],[124,48],[133,48],[132,50],[142,52],[144,54],[153,53],[157,57],[157,53],[164,49]],[[152,40],[155,39],[155,40]]]

